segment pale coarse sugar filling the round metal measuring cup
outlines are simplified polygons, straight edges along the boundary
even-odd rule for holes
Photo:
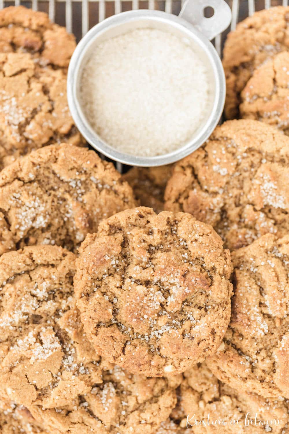
[[[208,69],[184,38],[136,29],[94,46],[80,92],[84,115],[101,139],[127,154],[163,155],[206,118]]]

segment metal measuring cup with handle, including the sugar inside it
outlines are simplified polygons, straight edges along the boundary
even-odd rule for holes
[[[204,16],[207,6],[211,18]],[[231,10],[223,0],[188,0],[180,16],[120,13],[93,27],[71,58],[75,124],[115,161],[177,161],[201,146],[221,117],[224,71],[209,39],[229,25]]]

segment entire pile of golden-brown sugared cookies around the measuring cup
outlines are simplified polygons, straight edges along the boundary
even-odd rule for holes
[[[250,119],[121,177],[69,114],[73,37],[0,12],[1,433],[289,432],[288,16],[227,40]]]

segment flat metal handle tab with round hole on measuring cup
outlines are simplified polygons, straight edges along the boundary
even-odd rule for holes
[[[214,9],[214,15],[206,18],[206,7]],[[230,6],[224,0],[186,0],[179,17],[194,24],[208,39],[214,39],[231,23]]]

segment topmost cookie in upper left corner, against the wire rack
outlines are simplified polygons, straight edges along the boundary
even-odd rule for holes
[[[0,53],[27,52],[42,66],[67,69],[75,46],[75,37],[46,13],[23,6],[0,11]]]

